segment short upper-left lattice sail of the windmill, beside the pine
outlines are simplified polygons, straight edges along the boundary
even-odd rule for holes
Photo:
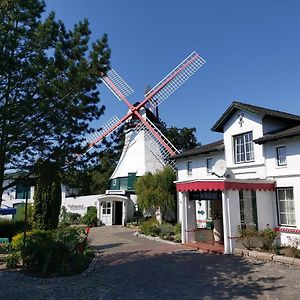
[[[114,69],[110,69],[102,81],[119,100],[134,92]]]

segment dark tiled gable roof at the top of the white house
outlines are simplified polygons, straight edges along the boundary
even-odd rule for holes
[[[212,131],[223,132],[224,123],[231,117],[236,110],[246,110],[252,112],[262,118],[272,118],[285,120],[289,124],[297,125],[300,124],[300,116],[282,112],[279,110],[268,109],[260,106],[246,104],[238,101],[233,101],[229,108],[223,113],[219,120],[211,128]]]

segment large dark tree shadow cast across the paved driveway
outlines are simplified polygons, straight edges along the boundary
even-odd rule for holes
[[[285,288],[284,277],[260,272],[263,263],[235,256],[147,250],[108,254],[100,264],[107,299],[257,299]]]

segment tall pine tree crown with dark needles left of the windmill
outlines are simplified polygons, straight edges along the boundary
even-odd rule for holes
[[[74,165],[90,122],[104,112],[97,85],[109,68],[107,36],[89,47],[87,20],[66,30],[53,12],[42,19],[44,11],[41,0],[0,2],[1,195],[14,185],[3,187],[4,174],[38,157]]]

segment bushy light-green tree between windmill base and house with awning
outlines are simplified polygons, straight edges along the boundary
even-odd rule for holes
[[[175,215],[176,188],[174,181],[176,175],[169,166],[154,174],[147,173],[138,178],[136,182],[136,193],[139,206],[152,214],[158,214],[160,221],[167,214]]]

